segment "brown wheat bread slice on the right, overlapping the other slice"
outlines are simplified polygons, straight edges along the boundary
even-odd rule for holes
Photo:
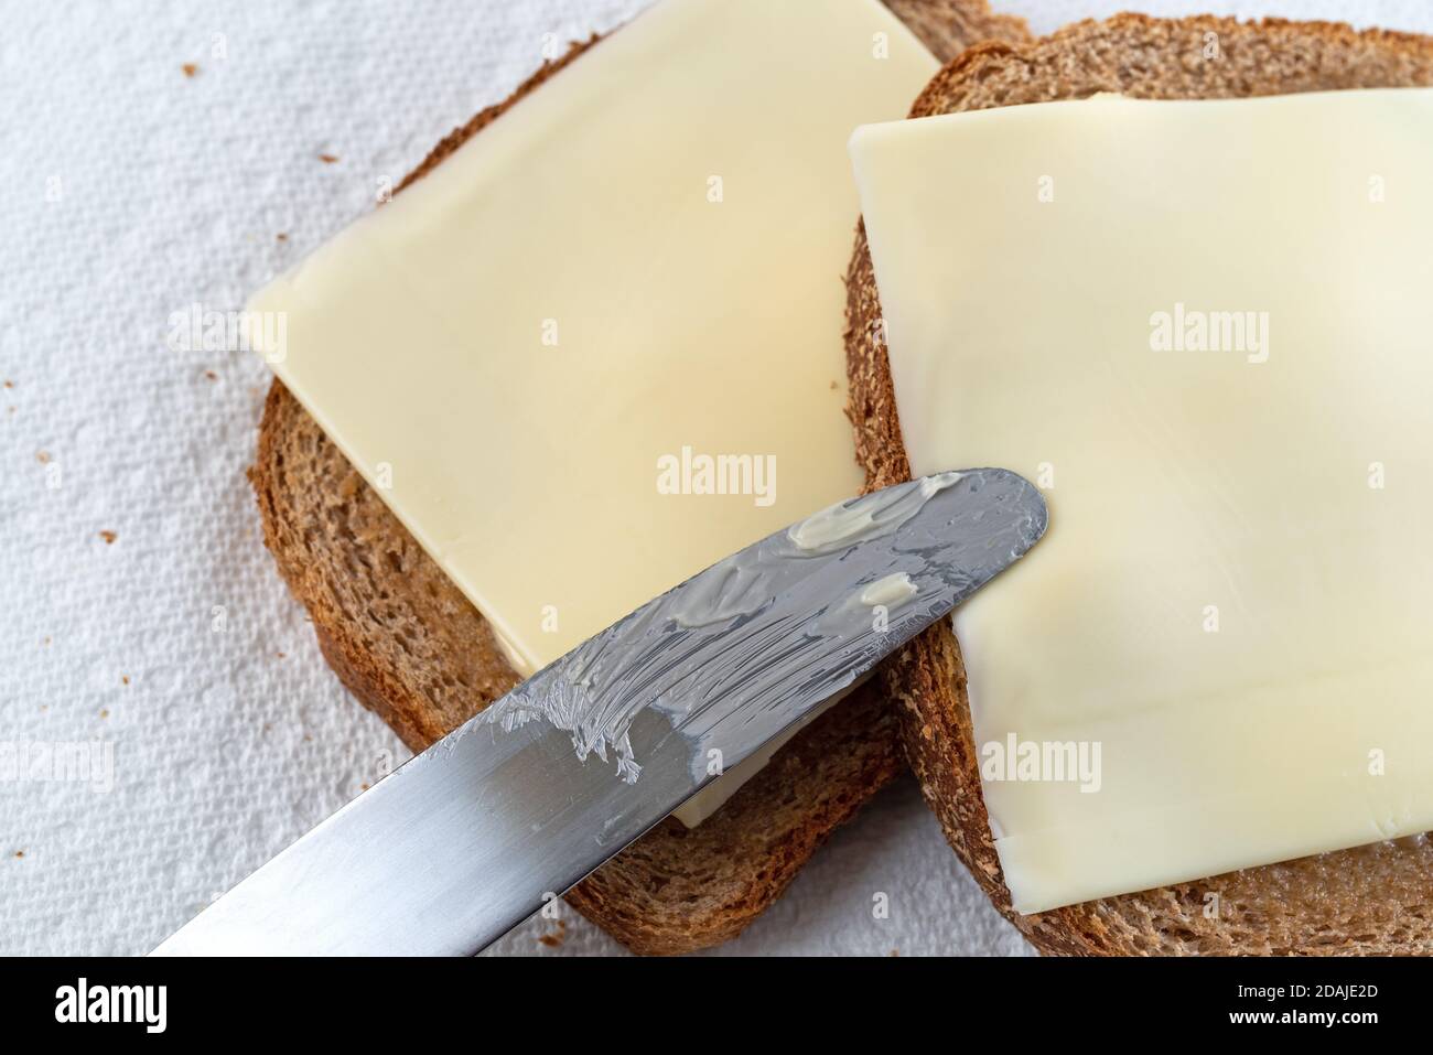
[[[1205,57],[1211,42],[1218,46],[1217,59]],[[1433,37],[1356,33],[1328,23],[1122,14],[1082,22],[1025,46],[977,46],[931,80],[911,116],[1096,92],[1215,99],[1427,85],[1433,85]],[[890,364],[878,340],[881,307],[864,226],[857,229],[847,290],[857,457],[867,486],[884,487],[909,479],[910,469]],[[1427,836],[1019,916],[1010,909],[980,793],[964,668],[949,622],[893,657],[883,678],[903,702],[907,760],[952,847],[996,907],[1042,952],[1433,953],[1433,841]],[[1217,915],[1205,915],[1211,893],[1218,894]]]

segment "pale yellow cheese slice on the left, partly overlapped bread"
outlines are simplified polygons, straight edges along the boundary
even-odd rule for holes
[[[860,489],[845,142],[936,69],[874,0],[665,0],[252,300],[520,672]]]

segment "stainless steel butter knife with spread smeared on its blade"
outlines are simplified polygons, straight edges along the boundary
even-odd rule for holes
[[[1000,469],[823,510],[543,668],[155,955],[466,955],[500,937],[1045,533]]]

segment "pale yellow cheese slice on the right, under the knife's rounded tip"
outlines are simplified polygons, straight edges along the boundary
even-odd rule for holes
[[[1049,499],[956,616],[1015,906],[1433,829],[1433,92],[851,152],[911,470]]]

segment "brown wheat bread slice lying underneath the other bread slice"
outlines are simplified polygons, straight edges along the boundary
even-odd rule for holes
[[[941,56],[1026,39],[984,0],[891,0]],[[440,142],[407,186],[592,47],[576,44],[507,100]],[[330,667],[413,750],[512,688],[492,631],[298,401],[275,381],[249,470],[264,539],[308,609]],[[738,935],[781,896],[830,833],[904,768],[876,682],[807,727],[721,810],[688,830],[668,820],[567,894],[629,949],[679,953]]]

